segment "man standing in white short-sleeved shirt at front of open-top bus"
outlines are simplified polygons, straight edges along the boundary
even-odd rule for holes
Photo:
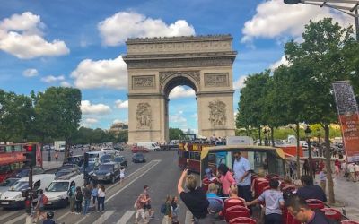
[[[250,202],[250,161],[242,157],[241,152],[234,153],[233,172],[238,187],[238,196],[244,198],[246,202]]]

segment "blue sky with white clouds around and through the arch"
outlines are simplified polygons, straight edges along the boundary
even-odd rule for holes
[[[304,24],[352,18],[282,0],[0,0],[0,89],[29,95],[49,86],[83,93],[82,125],[127,122],[127,38],[231,34],[234,109],[245,77],[286,63],[285,41],[301,41]],[[197,131],[193,90],[171,91],[170,126]]]

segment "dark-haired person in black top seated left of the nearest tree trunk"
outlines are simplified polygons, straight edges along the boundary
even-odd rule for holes
[[[297,195],[304,200],[318,199],[321,202],[327,202],[327,196],[319,185],[313,185],[313,177],[303,175],[301,177],[302,187],[297,190]]]

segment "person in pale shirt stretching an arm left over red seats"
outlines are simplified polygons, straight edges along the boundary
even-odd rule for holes
[[[251,202],[246,202],[247,206],[258,202],[266,202],[265,224],[282,223],[282,207],[285,205],[283,194],[278,190],[279,181],[271,179],[269,181],[270,189],[266,190],[259,197]]]

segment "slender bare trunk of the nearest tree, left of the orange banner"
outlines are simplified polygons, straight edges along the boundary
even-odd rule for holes
[[[325,145],[326,145],[326,168],[327,168],[327,179],[328,179],[328,197],[329,197],[329,204],[334,204],[336,202],[335,196],[334,196],[334,185],[333,185],[333,177],[332,177],[332,171],[331,171],[331,165],[330,165],[330,142],[329,142],[329,125],[324,125],[324,139],[325,139]]]

